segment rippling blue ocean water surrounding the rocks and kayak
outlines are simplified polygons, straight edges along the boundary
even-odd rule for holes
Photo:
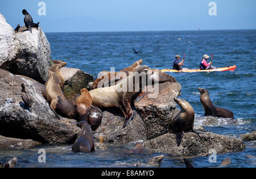
[[[96,76],[100,71],[115,67],[119,71],[143,59],[151,68],[172,68],[176,54],[186,54],[184,68],[198,69],[204,54],[213,53],[213,65],[237,65],[234,72],[170,73],[182,86],[182,99],[187,100],[196,113],[197,125],[203,123],[203,107],[198,87],[207,88],[217,106],[232,110],[237,124],[219,118],[207,131],[239,137],[256,130],[256,30],[251,31],[180,31],[180,32],[90,32],[46,33],[51,44],[52,59],[68,63],[67,67],[79,68]],[[133,48],[141,53],[134,54]],[[133,144],[109,145],[107,151],[93,154],[73,154],[71,146],[40,146],[30,150],[0,150],[0,161],[18,157],[18,167],[133,167],[138,161],[161,154],[127,155]],[[39,164],[40,148],[47,152],[47,163]],[[159,167],[185,167],[177,156],[164,154]],[[216,167],[226,157],[228,167],[256,167],[256,144],[246,142],[246,149],[231,154],[217,155],[217,163],[208,157],[189,159],[195,167]],[[182,157],[181,157],[182,158]]]

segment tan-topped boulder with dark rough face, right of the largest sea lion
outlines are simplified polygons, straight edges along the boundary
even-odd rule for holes
[[[166,134],[168,124],[180,112],[176,108],[174,97],[179,96],[181,85],[179,83],[160,83],[159,94],[150,99],[148,95],[154,92],[146,92],[143,99],[135,103],[147,126],[147,139],[153,139]]]

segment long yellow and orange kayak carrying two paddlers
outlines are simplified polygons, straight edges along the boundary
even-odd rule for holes
[[[228,66],[228,67],[222,67],[217,69],[210,69],[210,70],[200,70],[200,69],[187,69],[187,70],[172,70],[172,69],[163,69],[162,72],[174,72],[174,73],[196,73],[196,72],[212,72],[212,71],[235,71],[237,68],[236,65],[234,66]]]

